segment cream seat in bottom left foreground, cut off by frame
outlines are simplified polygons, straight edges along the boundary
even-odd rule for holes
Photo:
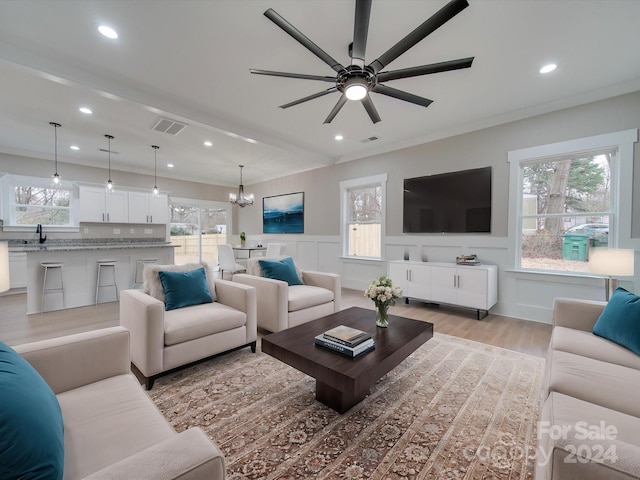
[[[200,428],[176,433],[131,373],[129,332],[112,327],[14,347],[58,399],[64,480],[224,479]]]

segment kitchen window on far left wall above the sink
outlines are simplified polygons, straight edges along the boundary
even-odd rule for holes
[[[32,227],[40,223],[54,227],[73,226],[71,185],[53,186],[50,179],[17,175],[8,175],[3,182],[8,219],[5,225]]]

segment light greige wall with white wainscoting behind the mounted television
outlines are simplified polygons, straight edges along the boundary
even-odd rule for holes
[[[256,206],[238,214],[238,231],[263,243],[281,241],[303,268],[338,272],[343,286],[364,289],[371,279],[386,273],[386,262],[340,258],[339,183],[358,177],[387,173],[386,260],[411,259],[452,262],[460,254],[475,253],[484,263],[498,265],[498,304],[493,313],[550,322],[553,299],[559,296],[604,300],[604,281],[598,278],[508,271],[509,164],[511,150],[640,127],[640,92],[582,105],[538,117],[500,125],[428,144],[338,164],[247,189]],[[635,146],[633,185],[640,191],[640,153]],[[439,235],[402,233],[402,182],[404,178],[448,171],[493,167],[492,232],[487,235]],[[263,196],[305,192],[305,234],[261,234]],[[640,195],[623,198],[631,203],[632,245],[636,253],[636,277],[621,286],[640,290]]]

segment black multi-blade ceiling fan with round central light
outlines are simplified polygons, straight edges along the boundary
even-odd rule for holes
[[[430,73],[447,72],[450,70],[458,70],[461,68],[469,68],[474,57],[461,58],[457,60],[449,60],[446,62],[432,63],[429,65],[421,65],[417,67],[403,68],[400,70],[392,70],[382,72],[381,70],[389,63],[394,61],[400,55],[405,53],[411,47],[423,40],[427,35],[434,32],[437,28],[444,25],[454,16],[467,8],[469,3],[467,0],[451,0],[447,5],[438,10],[434,15],[428,18],[420,26],[411,33],[406,35],[402,40],[393,47],[383,53],[376,60],[365,66],[365,50],[367,47],[367,33],[369,30],[369,16],[371,13],[371,0],[356,0],[355,25],[353,31],[353,43],[349,45],[349,56],[351,57],[351,65],[344,67],[337,60],[332,58],[328,53],[322,50],[318,45],[313,43],[296,27],[291,25],[287,20],[282,18],[273,9],[268,9],[264,15],[275,23],[278,27],[292,36],[295,40],[306,47],[311,53],[316,55],[320,60],[329,65],[337,72],[335,77],[307,75],[302,73],[274,72],[271,70],[250,69],[250,72],[256,75],[271,75],[275,77],[299,78],[302,80],[317,80],[321,82],[334,83],[335,85],[327,90],[323,90],[313,95],[295,100],[293,102],[280,105],[280,108],[289,108],[299,105],[303,102],[322,97],[329,93],[340,92],[342,95],[324,123],[331,121],[338,114],[347,100],[360,100],[365,110],[369,114],[373,123],[379,122],[380,115],[373,105],[370,93],[380,93],[388,97],[404,100],[405,102],[414,103],[423,107],[428,107],[433,100],[420,97],[412,93],[397,90],[395,88],[383,85],[383,82],[389,80],[397,80],[400,78],[416,77],[419,75],[428,75]]]

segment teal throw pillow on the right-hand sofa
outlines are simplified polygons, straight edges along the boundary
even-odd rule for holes
[[[593,326],[593,333],[640,355],[640,297],[617,288]]]

